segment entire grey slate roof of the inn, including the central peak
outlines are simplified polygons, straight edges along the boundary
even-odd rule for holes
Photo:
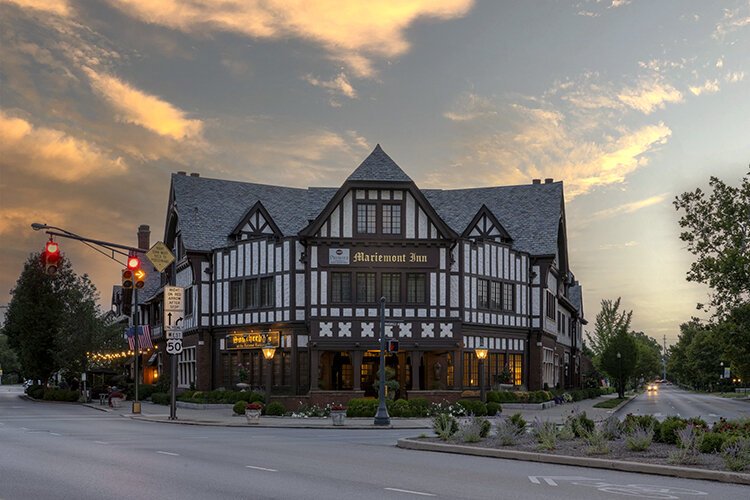
[[[380,145],[347,180],[412,182]],[[320,214],[339,190],[300,189],[184,174],[173,174],[172,186],[183,243],[187,249],[199,251],[227,246],[228,235],[257,201],[268,210],[285,236],[295,236]],[[425,189],[422,193],[458,234],[466,229],[481,206],[486,205],[513,238],[517,250],[532,255],[551,255],[557,251],[562,182]]]

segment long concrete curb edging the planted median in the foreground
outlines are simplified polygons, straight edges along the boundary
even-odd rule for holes
[[[436,451],[439,453],[455,453],[473,455],[476,457],[503,458],[508,460],[523,460],[527,462],[542,462],[558,465],[573,465],[576,467],[590,467],[594,469],[608,469],[622,472],[637,472],[659,476],[672,476],[684,479],[704,479],[722,483],[748,484],[750,474],[740,472],[725,472],[706,469],[691,469],[688,467],[674,467],[671,465],[644,464],[639,462],[618,462],[602,458],[572,457],[569,455],[548,455],[528,451],[500,450],[496,448],[479,448],[417,441],[413,438],[402,438],[396,444],[399,448],[417,451]]]

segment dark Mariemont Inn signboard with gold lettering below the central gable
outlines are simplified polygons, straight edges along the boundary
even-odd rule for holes
[[[437,267],[437,248],[330,248],[328,264],[357,267]]]

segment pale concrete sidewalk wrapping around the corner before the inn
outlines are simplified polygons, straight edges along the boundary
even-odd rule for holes
[[[576,403],[565,403],[546,410],[507,409],[499,416],[509,417],[520,413],[527,422],[535,418],[556,423],[563,423],[565,419],[580,411],[585,411],[592,420],[599,422],[611,416],[617,409],[594,408],[594,405],[605,399],[616,397],[610,394],[596,399],[585,399]],[[119,408],[109,408],[98,403],[88,403],[85,406],[96,410],[117,413],[123,417],[148,422],[186,425],[212,425],[225,427],[280,427],[298,429],[432,429],[430,418],[395,418],[391,417],[390,426],[375,425],[372,418],[346,418],[343,426],[334,426],[330,418],[310,417],[261,417],[259,424],[250,425],[244,415],[234,415],[231,408],[195,409],[177,407],[177,420],[169,420],[169,406],[155,405],[149,401],[141,402],[141,413],[131,413],[132,401],[123,401]],[[178,403],[179,404],[179,403]],[[623,403],[627,405],[628,402]],[[619,408],[622,408],[620,405]],[[492,419],[492,417],[490,417]]]

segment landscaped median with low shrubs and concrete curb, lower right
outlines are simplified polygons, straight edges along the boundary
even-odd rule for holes
[[[628,415],[596,424],[585,413],[562,424],[520,414],[496,419],[436,416],[436,437],[402,439],[401,448],[661,474],[750,485],[750,419],[720,421]]]

